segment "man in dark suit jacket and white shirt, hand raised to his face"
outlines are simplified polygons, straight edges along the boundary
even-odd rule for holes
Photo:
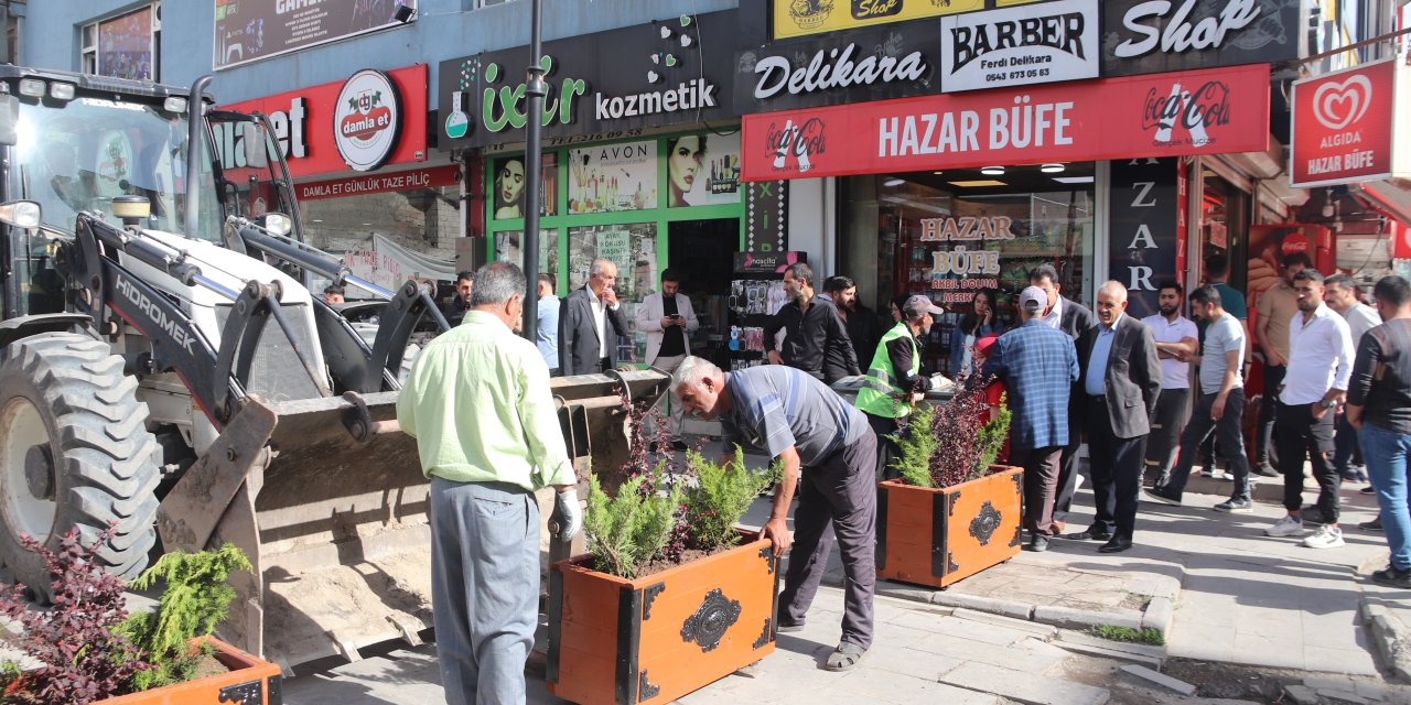
[[[617,265],[597,258],[588,285],[563,300],[559,316],[559,365],[563,376],[595,375],[617,367],[617,338],[631,331],[618,303]]]

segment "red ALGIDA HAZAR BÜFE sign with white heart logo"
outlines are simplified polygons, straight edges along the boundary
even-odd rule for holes
[[[1411,99],[1397,59],[1295,80],[1290,182],[1352,183],[1411,172],[1411,140],[1398,140],[1397,102]],[[1400,89],[1400,90],[1398,90]],[[1404,124],[1404,121],[1401,123]]]

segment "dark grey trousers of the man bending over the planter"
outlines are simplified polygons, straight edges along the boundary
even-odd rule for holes
[[[828,568],[834,536],[842,548],[842,642],[872,646],[872,595],[876,591],[878,437],[872,429],[817,467],[804,468],[794,509],[793,548],[779,620],[803,622]],[[832,532],[828,527],[832,527]]]

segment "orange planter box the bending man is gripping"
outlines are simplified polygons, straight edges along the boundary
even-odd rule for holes
[[[549,572],[549,692],[583,705],[670,702],[775,650],[773,543],[635,580],[584,567]]]

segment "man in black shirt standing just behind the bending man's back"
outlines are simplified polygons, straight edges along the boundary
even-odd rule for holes
[[[772,365],[789,365],[831,385],[848,375],[861,375],[858,355],[852,351],[838,309],[813,292],[813,269],[806,264],[785,269],[786,303],[765,326],[765,350]],[[785,330],[782,350],[775,350],[776,336]]]

